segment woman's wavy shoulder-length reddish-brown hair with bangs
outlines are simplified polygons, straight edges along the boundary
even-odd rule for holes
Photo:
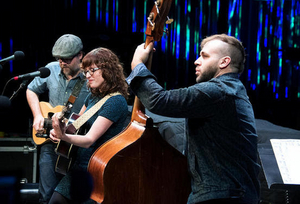
[[[104,82],[96,89],[88,85],[91,93],[103,97],[118,91],[127,99],[128,85],[125,81],[123,65],[117,55],[107,48],[96,48],[84,56],[81,64],[82,69],[85,70],[93,64],[102,70]]]

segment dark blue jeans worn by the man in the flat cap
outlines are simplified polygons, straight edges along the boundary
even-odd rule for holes
[[[63,175],[55,172],[57,144],[46,143],[41,146],[39,158],[39,193],[40,203],[48,203],[55,187]]]

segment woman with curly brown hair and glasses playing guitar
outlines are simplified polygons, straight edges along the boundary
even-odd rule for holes
[[[85,100],[79,119],[85,115],[84,112],[87,113],[95,104],[99,104],[98,102],[105,96],[112,96],[100,106],[94,115],[88,116],[90,117],[87,121],[89,130],[85,135],[68,134],[69,127],[72,126],[66,127],[57,114],[53,116],[51,139],[74,144],[78,146],[78,151],[70,171],[55,188],[49,203],[74,203],[75,200],[77,202],[89,198],[90,185],[84,186],[84,183],[73,185],[72,182],[76,180],[74,175],[78,172],[87,172],[88,161],[92,153],[105,141],[121,132],[127,117],[127,84],[118,57],[109,49],[97,48],[83,58],[82,68],[91,93]],[[116,92],[118,94],[115,94]],[[85,192],[74,190],[76,187]]]

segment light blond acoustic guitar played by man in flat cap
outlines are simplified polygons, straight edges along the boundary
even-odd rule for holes
[[[32,128],[32,139],[36,145],[42,145],[46,142],[53,142],[49,137],[49,132],[52,129],[51,117],[54,115],[54,113],[62,112],[62,115],[64,115],[64,113],[68,111],[68,108],[65,106],[59,105],[52,107],[50,103],[44,101],[41,101],[39,105],[44,117],[44,131],[43,133],[37,133],[37,131]]]

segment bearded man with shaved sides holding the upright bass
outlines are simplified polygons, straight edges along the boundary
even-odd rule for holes
[[[153,43],[137,47],[127,82],[151,112],[186,118],[192,190],[188,203],[258,203],[255,118],[238,78],[244,69],[244,47],[222,34],[205,38],[201,49],[193,86],[167,91],[155,81],[144,65]]]

